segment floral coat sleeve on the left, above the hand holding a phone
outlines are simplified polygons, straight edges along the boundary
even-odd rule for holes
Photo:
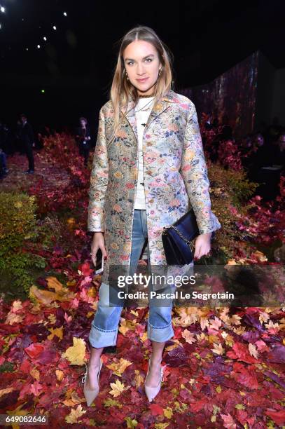
[[[97,142],[90,175],[88,231],[104,232],[104,203],[109,180],[109,164],[106,146],[103,108],[99,112]]]

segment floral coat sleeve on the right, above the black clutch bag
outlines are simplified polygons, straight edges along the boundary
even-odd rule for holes
[[[209,179],[204,158],[197,112],[190,102],[181,158],[181,176],[186,185],[190,204],[195,212],[200,234],[221,228],[216,215],[211,211]]]

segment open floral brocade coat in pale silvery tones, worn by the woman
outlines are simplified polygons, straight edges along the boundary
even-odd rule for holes
[[[132,108],[134,102],[130,100],[128,113],[123,114],[123,123],[111,144],[111,100],[99,112],[90,177],[88,231],[104,231],[109,259],[104,261],[102,282],[107,284],[110,264],[130,267],[138,176],[137,125]],[[144,128],[143,157],[151,265],[165,265],[163,226],[173,224],[191,207],[200,233],[221,228],[211,211],[207,165],[196,109],[188,97],[169,90],[153,107]]]

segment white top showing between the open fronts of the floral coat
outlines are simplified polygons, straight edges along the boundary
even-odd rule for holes
[[[137,180],[137,195],[134,200],[134,208],[146,210],[146,200],[144,196],[144,159],[143,159],[143,135],[146,121],[153,109],[154,97],[139,98],[136,107],[134,108],[137,120],[137,137],[138,137],[138,180]],[[144,108],[145,106],[145,108]],[[141,110],[140,110],[141,109]]]

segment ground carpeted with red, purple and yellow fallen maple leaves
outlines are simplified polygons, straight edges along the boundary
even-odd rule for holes
[[[52,199],[55,190],[69,185],[66,172],[41,154],[35,175],[22,173],[25,163],[24,156],[9,159],[11,172],[1,189],[28,190],[41,183],[43,195],[51,193]],[[151,353],[148,307],[124,308],[117,348],[104,349],[100,392],[87,407],[81,379],[98,287],[88,259],[90,239],[76,222],[67,224],[74,240],[68,252],[39,247],[48,265],[29,298],[1,300],[0,414],[46,414],[50,428],[285,425],[284,308],[174,307],[175,336],[162,362],[169,365],[153,402],[144,393]]]

